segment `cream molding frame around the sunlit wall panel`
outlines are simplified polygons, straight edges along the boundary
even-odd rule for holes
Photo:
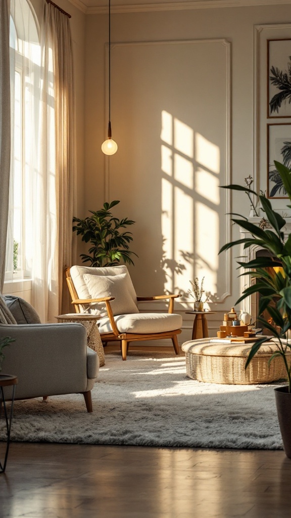
[[[231,43],[226,39],[191,39],[191,40],[165,40],[165,41],[134,41],[134,42],[113,42],[111,51],[116,47],[131,47],[131,46],[163,46],[163,45],[201,45],[201,44],[217,44],[222,45],[225,48],[225,64],[226,64],[226,77],[225,77],[225,162],[223,164],[225,175],[223,184],[227,185],[231,180]],[[105,45],[105,77],[108,78],[108,45]],[[105,87],[105,106],[108,105],[108,88]],[[105,113],[104,127],[107,127],[107,114]],[[114,129],[114,128],[113,128]],[[114,135],[113,135],[114,138]],[[110,160],[104,156],[104,199],[110,199]],[[225,242],[229,242],[231,239],[231,225],[229,214],[231,209],[230,203],[230,191],[225,190],[225,205],[220,210],[222,217],[225,218]],[[224,276],[225,285],[223,292],[215,298],[216,304],[222,304],[224,300],[231,296],[231,250],[227,250],[224,253]]]

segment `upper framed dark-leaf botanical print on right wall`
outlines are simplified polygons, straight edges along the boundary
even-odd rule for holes
[[[267,49],[267,117],[291,117],[291,39],[268,39]]]

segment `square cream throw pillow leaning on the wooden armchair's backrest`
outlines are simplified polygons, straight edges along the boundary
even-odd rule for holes
[[[137,305],[128,291],[128,274],[120,275],[84,275],[84,281],[92,298],[115,297],[111,301],[113,315],[122,315],[127,313],[139,313]],[[100,316],[107,316],[107,310],[104,303],[95,305],[95,309],[99,309]]]

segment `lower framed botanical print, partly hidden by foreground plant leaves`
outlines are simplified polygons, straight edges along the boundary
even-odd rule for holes
[[[267,124],[268,198],[288,198],[274,160],[291,168],[291,123]]]

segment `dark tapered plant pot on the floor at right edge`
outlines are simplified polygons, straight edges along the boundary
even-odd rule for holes
[[[284,450],[287,457],[291,458],[291,393],[288,392],[288,386],[274,390]]]

